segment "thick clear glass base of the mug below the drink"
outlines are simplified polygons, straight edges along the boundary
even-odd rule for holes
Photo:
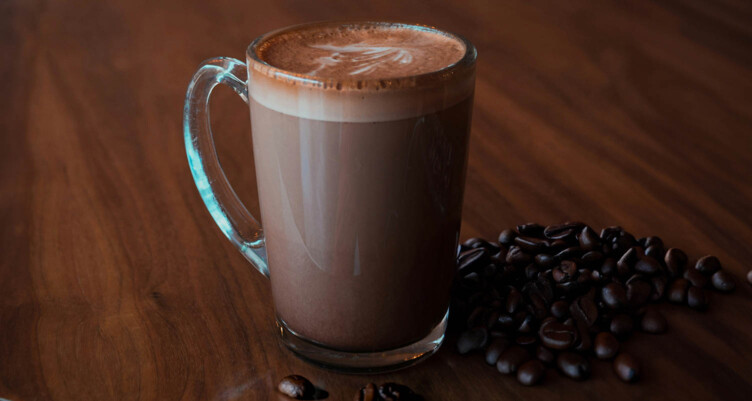
[[[449,309],[428,335],[412,344],[378,352],[347,352],[327,348],[307,340],[277,319],[280,340],[298,358],[318,367],[340,373],[384,373],[413,366],[433,355],[444,342]]]

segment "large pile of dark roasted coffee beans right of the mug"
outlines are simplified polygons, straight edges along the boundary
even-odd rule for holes
[[[549,367],[586,379],[592,357],[613,360],[621,380],[636,381],[640,363],[621,343],[635,330],[666,332],[657,303],[705,310],[709,288],[736,285],[714,256],[689,265],[659,237],[637,239],[618,226],[598,234],[578,222],[471,238],[457,261],[450,319],[457,350],[485,352],[489,365],[523,385],[539,383]]]

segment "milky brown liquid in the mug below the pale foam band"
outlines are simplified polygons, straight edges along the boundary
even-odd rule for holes
[[[277,316],[339,350],[426,336],[449,303],[472,95],[426,115],[306,119],[251,99]]]

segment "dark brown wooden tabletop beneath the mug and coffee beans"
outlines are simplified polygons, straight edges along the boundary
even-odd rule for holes
[[[743,400],[752,394],[752,4],[528,1],[0,2],[0,397],[266,400],[290,373],[332,400],[368,381],[429,400]],[[658,4],[660,3],[660,4]],[[181,112],[198,63],[274,28],[371,17],[478,47],[463,238],[579,219],[712,253],[739,281],[705,314],[576,383],[524,388],[452,344],[376,377],[321,371],[275,337],[269,285],[191,180]],[[246,106],[212,113],[225,171],[258,212]]]

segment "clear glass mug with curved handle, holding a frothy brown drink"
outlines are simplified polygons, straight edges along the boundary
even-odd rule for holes
[[[280,35],[332,29],[431,33],[464,54],[437,71],[386,79],[307,75],[264,59]],[[383,48],[344,50],[359,57]],[[280,338],[302,359],[379,372],[409,366],[441,345],[476,54],[466,39],[431,27],[324,22],[262,35],[248,47],[246,64],[210,59],[193,76],[184,136],[196,187],[220,230],[270,278]],[[208,108],[217,84],[250,106],[263,231],[217,158]]]

